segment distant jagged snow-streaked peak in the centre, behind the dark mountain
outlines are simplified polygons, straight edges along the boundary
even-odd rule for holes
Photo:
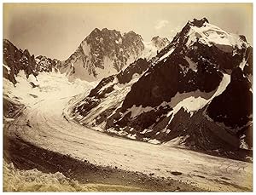
[[[143,38],[135,32],[122,35],[107,28],[95,29],[62,63],[61,72],[70,78],[93,81],[119,72],[143,53]]]

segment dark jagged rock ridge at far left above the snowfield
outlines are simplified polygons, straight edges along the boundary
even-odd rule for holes
[[[34,57],[27,49],[17,49],[9,40],[3,39],[3,77],[12,83],[17,83],[16,76],[24,71],[26,77],[37,77],[39,72],[57,71],[60,60],[51,60],[45,56]]]

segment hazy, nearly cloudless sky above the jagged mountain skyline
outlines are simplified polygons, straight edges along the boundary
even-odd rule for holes
[[[31,54],[67,60],[96,27],[172,39],[206,17],[253,44],[252,3],[3,3],[3,38]]]

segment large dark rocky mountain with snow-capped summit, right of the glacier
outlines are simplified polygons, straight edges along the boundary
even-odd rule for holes
[[[103,79],[73,117],[131,139],[240,155],[252,146],[252,50],[205,18],[189,21],[143,70]]]

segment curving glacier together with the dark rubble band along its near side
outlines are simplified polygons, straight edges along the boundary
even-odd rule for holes
[[[83,186],[67,191],[253,191],[252,163],[110,136],[68,120],[63,109],[71,95],[89,92],[92,85],[75,83],[75,87],[64,77],[38,77],[40,88],[35,89],[27,82],[16,88],[3,84],[5,94],[26,105],[15,119],[4,119],[4,160],[10,167],[14,163],[18,173],[59,171]],[[66,184],[73,186],[67,178]],[[3,186],[10,181],[4,178]],[[26,191],[22,187],[18,191],[22,189]]]

